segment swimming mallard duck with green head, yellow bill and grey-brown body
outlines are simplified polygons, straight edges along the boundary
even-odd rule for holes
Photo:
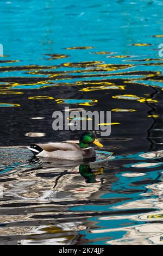
[[[39,157],[50,157],[60,160],[83,160],[96,157],[96,151],[90,144],[98,147],[103,145],[96,138],[95,133],[85,132],[80,138],[79,145],[72,142],[54,142],[45,144],[32,144],[27,147],[32,153]]]

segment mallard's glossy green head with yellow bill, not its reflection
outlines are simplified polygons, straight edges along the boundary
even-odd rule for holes
[[[94,143],[98,147],[103,147],[103,145],[98,141],[94,132],[85,132],[80,138],[79,146],[81,149],[86,149],[90,147],[90,144]]]

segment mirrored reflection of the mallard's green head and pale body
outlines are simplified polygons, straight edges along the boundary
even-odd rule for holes
[[[81,200],[83,197],[89,198],[92,193],[96,193],[101,188],[101,179],[97,178],[97,175],[103,172],[103,167],[89,163],[52,167],[48,168],[48,173],[45,173],[45,170],[39,170],[37,176],[49,178],[49,175],[52,175],[53,178],[53,187],[44,191],[40,200],[54,202],[62,199],[73,201]]]

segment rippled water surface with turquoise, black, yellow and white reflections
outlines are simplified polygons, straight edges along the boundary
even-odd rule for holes
[[[1,1],[0,10],[0,243],[162,245],[162,1]],[[63,163],[26,149],[79,139],[52,130],[65,106],[111,111],[100,139],[108,160]]]

